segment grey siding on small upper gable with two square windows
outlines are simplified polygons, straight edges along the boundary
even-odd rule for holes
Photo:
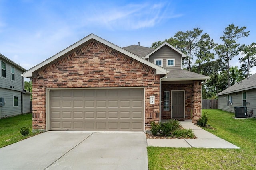
[[[164,45],[161,49],[150,55],[149,61],[154,63],[155,59],[163,59],[163,68],[166,70],[178,70],[181,69],[182,57],[179,53]],[[175,66],[167,67],[166,59],[175,59]]]

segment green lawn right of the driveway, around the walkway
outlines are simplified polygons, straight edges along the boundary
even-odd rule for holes
[[[233,119],[234,113],[204,109],[209,113],[206,129],[241,149],[148,147],[150,170],[256,169],[256,119]]]

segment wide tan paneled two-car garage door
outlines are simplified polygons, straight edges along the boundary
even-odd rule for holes
[[[50,130],[143,131],[143,89],[50,90]]]

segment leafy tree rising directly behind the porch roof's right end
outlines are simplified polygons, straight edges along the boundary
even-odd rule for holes
[[[198,64],[198,73],[201,73],[201,64],[214,59],[214,53],[211,53],[211,50],[216,46],[213,39],[210,38],[210,35],[204,33],[198,43],[196,44],[196,61],[195,64]]]

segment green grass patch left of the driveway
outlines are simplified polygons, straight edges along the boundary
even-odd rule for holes
[[[22,136],[21,127],[29,127],[30,133],[27,136]],[[0,119],[0,148],[34,135],[37,133],[32,133],[31,113]]]

